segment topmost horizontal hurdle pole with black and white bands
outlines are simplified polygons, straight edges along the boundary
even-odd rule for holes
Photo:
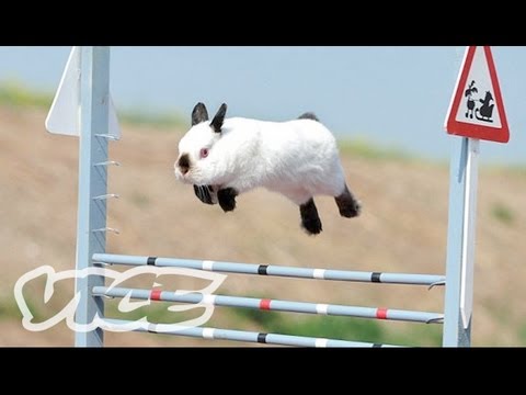
[[[412,273],[382,273],[366,271],[309,269],[285,266],[268,266],[253,263],[218,262],[210,260],[175,259],[158,257],[125,256],[113,253],[94,253],[93,262],[107,264],[146,266],[187,268],[215,272],[275,275],[299,279],[339,280],[354,282],[369,282],[384,284],[408,285],[444,285],[445,275],[412,274]]]

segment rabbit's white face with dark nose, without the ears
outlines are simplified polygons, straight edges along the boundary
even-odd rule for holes
[[[184,183],[199,184],[209,161],[208,156],[220,133],[214,132],[208,122],[193,126],[179,142],[179,157],[174,163],[175,177]]]

